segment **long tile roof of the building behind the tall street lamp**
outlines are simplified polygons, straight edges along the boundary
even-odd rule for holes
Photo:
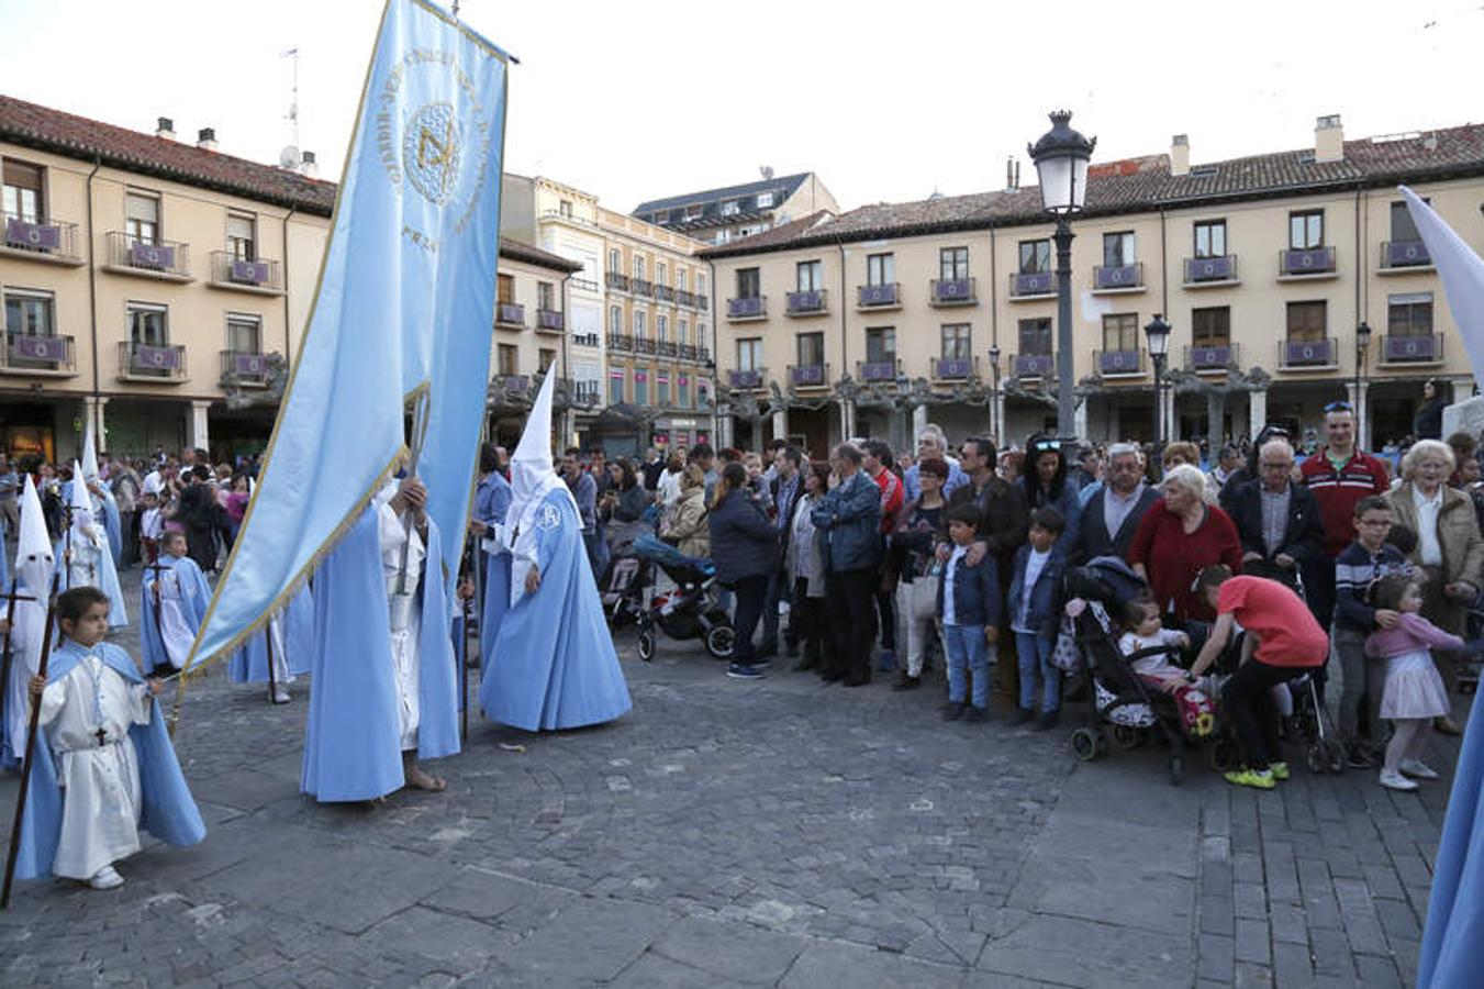
[[[1165,154],[1100,162],[1088,171],[1085,215],[1146,212],[1208,200],[1294,196],[1358,186],[1385,187],[1399,181],[1454,175],[1484,175],[1484,125],[1346,141],[1345,156],[1337,162],[1315,162],[1309,148],[1201,163],[1187,175],[1171,175],[1169,157]],[[785,224],[757,236],[711,247],[700,251],[700,255],[721,258],[837,241],[1034,223],[1046,223],[1046,214],[1040,208],[1040,190],[1030,186],[861,206],[821,223]]]

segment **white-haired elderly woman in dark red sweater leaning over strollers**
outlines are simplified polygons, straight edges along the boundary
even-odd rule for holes
[[[1201,468],[1181,463],[1169,471],[1159,490],[1163,497],[1138,523],[1128,561],[1149,581],[1162,610],[1178,622],[1209,622],[1215,612],[1196,593],[1196,576],[1217,563],[1241,573],[1242,541],[1227,514],[1206,503]]]

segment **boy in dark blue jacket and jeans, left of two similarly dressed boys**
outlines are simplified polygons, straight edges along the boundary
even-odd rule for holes
[[[948,509],[948,538],[953,552],[938,584],[938,619],[942,622],[942,650],[948,656],[948,702],[944,720],[982,722],[990,705],[990,659],[987,646],[1000,636],[1000,578],[994,557],[984,555],[969,566],[968,554],[982,520],[974,502]],[[974,676],[974,704],[966,705],[966,674]]]

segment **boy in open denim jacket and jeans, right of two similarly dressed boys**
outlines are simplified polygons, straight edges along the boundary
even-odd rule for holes
[[[1037,731],[1057,726],[1061,710],[1061,670],[1051,665],[1057,649],[1061,610],[1061,575],[1066,554],[1061,533],[1066,518],[1055,508],[1037,508],[1030,515],[1030,542],[1015,552],[1015,576],[1011,579],[1011,631],[1015,633],[1015,656],[1020,661],[1021,696],[1015,723],[1036,717],[1036,695],[1040,695]]]

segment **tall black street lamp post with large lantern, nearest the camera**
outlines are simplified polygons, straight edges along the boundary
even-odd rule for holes
[[[1057,217],[1057,435],[1070,437],[1076,413],[1071,349],[1071,217],[1082,212],[1088,195],[1088,162],[1097,138],[1088,140],[1068,126],[1070,110],[1051,114],[1051,129],[1027,146],[1040,181],[1040,205]]]

